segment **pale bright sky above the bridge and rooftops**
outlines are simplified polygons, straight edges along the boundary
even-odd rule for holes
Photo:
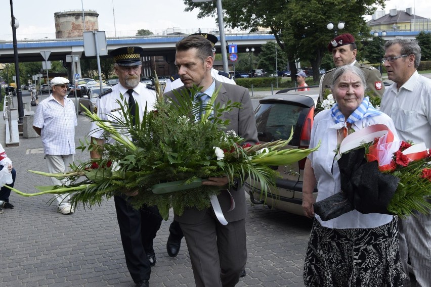
[[[232,0],[231,0],[232,1]],[[6,2],[6,1],[5,1]],[[8,1],[9,2],[9,1]],[[431,1],[429,0],[390,0],[386,1],[385,11],[397,8],[405,10],[413,8],[416,15],[431,18]],[[197,19],[198,10],[184,12],[183,0],[15,0],[13,1],[14,16],[19,21],[17,38],[38,39],[45,36],[54,37],[54,13],[68,10],[96,10],[99,13],[99,30],[134,31],[148,29],[163,31],[167,28],[209,31],[217,27],[215,18]],[[381,10],[381,9],[378,9]],[[3,17],[0,17],[0,38],[11,35],[10,5],[3,5]],[[115,25],[114,25],[115,15]],[[50,34],[50,35],[48,35]],[[119,33],[118,33],[119,34]]]

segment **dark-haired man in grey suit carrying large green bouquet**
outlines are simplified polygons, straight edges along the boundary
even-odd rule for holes
[[[211,42],[201,36],[188,36],[177,43],[176,49],[175,63],[184,83],[177,90],[195,84],[202,87],[201,91],[207,97],[211,97],[213,91],[221,86],[214,105],[223,105],[228,100],[242,104],[240,109],[223,115],[224,120],[230,120],[226,130],[234,130],[245,142],[254,145],[257,131],[248,89],[222,84],[212,78],[214,58]],[[167,92],[166,96],[175,98],[172,91]],[[228,224],[219,222],[212,207],[206,210],[188,208],[182,216],[175,215],[186,238],[195,283],[197,287],[235,286],[247,260],[244,189],[232,182],[229,190],[226,189],[229,184],[227,177],[209,177],[202,183],[224,189],[217,198]],[[235,208],[229,211],[232,200]]]

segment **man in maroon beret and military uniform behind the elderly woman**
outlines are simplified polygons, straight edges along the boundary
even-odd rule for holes
[[[358,53],[358,50],[356,49],[355,38],[351,34],[346,33],[335,37],[328,44],[328,51],[332,53],[332,59],[334,60],[334,65],[336,67],[343,65],[355,65],[361,68],[365,73],[368,89],[373,91],[376,97],[382,97],[384,92],[384,84],[381,79],[381,74],[376,68],[369,65],[359,64],[358,61],[356,61],[356,54]],[[335,69],[336,68],[327,71],[320,78],[320,101],[323,101],[323,94],[325,93],[325,90],[330,89],[329,83],[331,82],[332,72]]]

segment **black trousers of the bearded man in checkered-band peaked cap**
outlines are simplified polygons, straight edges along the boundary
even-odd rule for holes
[[[162,217],[155,206],[136,210],[120,196],[114,196],[114,202],[127,269],[135,283],[148,280],[151,266],[147,253],[153,251]]]

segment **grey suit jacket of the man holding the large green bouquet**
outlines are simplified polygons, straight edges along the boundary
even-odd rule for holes
[[[238,85],[221,83],[218,80],[215,80],[216,90],[220,85],[222,85],[222,87],[220,88],[217,99],[215,99],[214,105],[217,105],[218,103],[220,103],[220,105],[226,104],[228,100],[242,103],[242,108],[236,108],[229,113],[224,113],[223,120],[230,120],[226,130],[234,130],[239,136],[245,138],[246,142],[250,142],[252,145],[254,145],[258,141],[257,130],[253,106],[251,104],[248,89]],[[184,88],[185,86],[182,86],[177,90],[182,90]],[[168,97],[175,98],[172,91],[168,91],[166,95]],[[238,186],[237,189],[232,187],[230,189],[230,193],[235,201],[235,209],[229,212],[228,210],[231,207],[231,198],[229,193],[224,190],[218,196],[219,203],[226,220],[231,222],[244,219],[246,216],[244,187]],[[206,210],[189,208],[184,211],[182,216],[175,215],[174,218],[178,222],[195,224],[201,221],[205,212]]]

